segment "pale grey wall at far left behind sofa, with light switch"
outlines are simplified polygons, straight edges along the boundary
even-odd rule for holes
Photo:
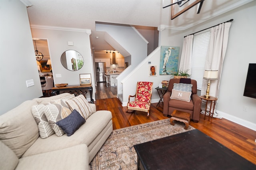
[[[42,96],[26,6],[19,0],[0,4],[0,115],[23,101]],[[27,87],[26,80],[34,80]]]

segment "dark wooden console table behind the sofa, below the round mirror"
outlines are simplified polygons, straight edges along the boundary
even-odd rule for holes
[[[86,89],[90,92],[91,103],[94,103],[92,99],[92,86],[81,86],[81,85],[67,85],[66,87],[53,87],[52,88],[52,96],[59,95],[61,93],[70,93],[75,96],[84,95],[86,98]]]

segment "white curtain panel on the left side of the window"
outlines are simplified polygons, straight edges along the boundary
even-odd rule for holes
[[[186,36],[183,42],[182,53],[180,57],[179,70],[186,71],[191,75],[192,47],[194,35]]]

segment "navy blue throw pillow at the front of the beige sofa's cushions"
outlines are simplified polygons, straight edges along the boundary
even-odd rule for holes
[[[62,130],[67,134],[67,136],[71,136],[76,132],[80,126],[85,123],[84,118],[74,109],[68,117],[56,122],[56,124],[62,128]]]

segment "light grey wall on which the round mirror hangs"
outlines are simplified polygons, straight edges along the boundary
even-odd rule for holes
[[[68,83],[68,85],[80,85],[79,74],[91,73],[92,87],[94,87],[94,67],[92,65],[93,60],[90,49],[90,38],[86,33],[86,31],[90,33],[90,30],[76,31],[69,30],[68,28],[64,30],[64,28],[56,29],[54,27],[46,26],[32,26],[31,30],[33,38],[48,40],[54,84]],[[68,45],[68,42],[73,42],[74,45],[70,46]],[[84,58],[83,67],[77,71],[65,69],[60,61],[62,53],[69,49],[78,51]],[[56,74],[60,74],[61,77],[57,77]],[[93,89],[93,92],[95,92],[95,88]],[[87,100],[90,100],[90,93],[87,93],[86,97]],[[94,98],[94,93],[92,98]]]

